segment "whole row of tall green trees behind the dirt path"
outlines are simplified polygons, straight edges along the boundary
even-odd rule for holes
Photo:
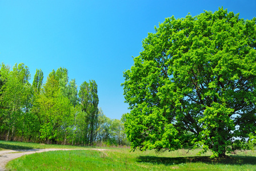
[[[0,70],[0,139],[54,144],[126,145],[123,123],[98,108],[97,84],[83,82],[79,92],[66,68],[47,76],[37,70],[33,84],[25,64]]]

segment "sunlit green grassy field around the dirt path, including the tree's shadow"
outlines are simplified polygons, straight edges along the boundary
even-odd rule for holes
[[[0,146],[3,141],[0,141]],[[9,144],[10,142],[5,142]],[[25,143],[26,144],[26,143]],[[23,146],[17,143],[19,146]],[[32,148],[36,145],[27,145]],[[71,148],[55,146],[52,148]],[[38,148],[38,147],[37,147]],[[51,148],[46,146],[46,148]],[[81,147],[79,147],[81,148]],[[225,158],[209,158],[210,152],[197,156],[200,149],[155,153],[130,152],[125,148],[54,151],[25,155],[10,161],[10,170],[256,170],[256,152],[247,150]]]

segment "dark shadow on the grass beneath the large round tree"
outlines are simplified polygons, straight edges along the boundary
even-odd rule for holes
[[[155,156],[139,156],[138,162],[150,162],[153,164],[174,165],[188,162],[202,162],[205,164],[227,164],[227,165],[256,165],[256,157],[253,156],[227,156],[222,158],[210,158],[209,156],[194,157],[155,157]]]

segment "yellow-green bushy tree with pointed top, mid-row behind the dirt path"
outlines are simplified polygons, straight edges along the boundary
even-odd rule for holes
[[[37,111],[35,113],[40,123],[40,138],[47,143],[64,141],[66,144],[67,129],[74,113],[69,99],[62,95],[54,75],[47,77],[33,108]]]

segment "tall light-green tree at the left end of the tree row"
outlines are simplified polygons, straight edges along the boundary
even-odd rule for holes
[[[2,64],[2,74],[6,83],[2,92],[2,117],[4,119],[2,127],[7,130],[6,140],[13,141],[17,129],[22,124],[22,116],[28,108],[27,100],[30,96],[30,72],[25,64],[15,64],[13,71],[6,70]],[[11,137],[10,137],[11,135]]]

